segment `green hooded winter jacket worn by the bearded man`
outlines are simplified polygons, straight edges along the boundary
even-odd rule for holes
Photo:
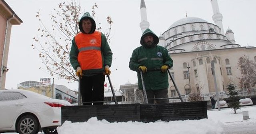
[[[144,37],[146,35],[153,36],[154,47],[148,48],[145,46]],[[157,45],[158,42],[158,37],[150,29],[146,29],[140,38],[140,44],[142,46],[137,47],[132,52],[129,68],[132,71],[137,72],[138,86],[140,90],[142,90],[142,82],[140,71],[138,69],[139,66],[146,66],[147,69],[161,69],[162,65],[167,65],[170,69],[173,65],[167,49]],[[143,73],[142,76],[146,90],[167,89],[169,86],[167,72],[162,73],[161,71],[147,71],[146,73]]]

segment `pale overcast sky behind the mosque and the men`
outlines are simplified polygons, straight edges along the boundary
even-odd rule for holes
[[[62,0],[5,0],[23,23],[12,26],[8,56],[9,71],[6,75],[6,88],[16,89],[24,81],[38,81],[40,78],[53,78],[48,72],[39,69],[44,67],[38,57],[38,51],[32,49],[33,37],[38,35],[36,12],[40,9],[42,20],[50,20],[50,12],[58,8]],[[137,75],[129,69],[128,63],[132,51],[140,46],[140,0],[81,0],[82,11],[90,12],[94,2],[96,22],[107,26],[106,17],[113,20],[110,47],[113,52],[112,73],[110,75],[115,89],[127,83],[136,83]],[[177,20],[186,17],[202,18],[210,23],[212,5],[210,0],[145,0],[150,29],[158,36],[165,32]],[[256,46],[256,0],[218,0],[220,13],[223,16],[224,32],[229,27],[234,32],[236,43],[241,46]],[[103,28],[104,30],[104,28]],[[71,45],[71,42],[70,42]],[[116,70],[117,69],[117,70]],[[115,71],[114,71],[115,70]],[[68,83],[55,78],[55,84],[65,85],[74,90],[78,83]],[[106,79],[108,83],[108,79]],[[109,85],[109,84],[108,84]]]

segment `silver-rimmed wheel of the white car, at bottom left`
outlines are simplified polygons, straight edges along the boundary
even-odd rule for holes
[[[39,122],[32,115],[25,115],[18,121],[18,133],[19,134],[38,134]]]

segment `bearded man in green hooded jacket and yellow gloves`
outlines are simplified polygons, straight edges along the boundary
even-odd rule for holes
[[[143,72],[144,86],[148,103],[168,103],[168,74],[167,69],[172,67],[172,59],[166,48],[157,45],[158,37],[146,29],[140,38],[140,47],[132,52],[129,68],[137,72],[138,86],[142,90],[140,71]],[[148,69],[160,69],[161,71],[148,71]]]

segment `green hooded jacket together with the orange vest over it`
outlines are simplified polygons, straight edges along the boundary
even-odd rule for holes
[[[92,28],[89,33],[85,33],[82,27],[82,20],[85,19],[91,20],[92,23]],[[76,70],[77,67],[81,67],[82,65],[81,68],[84,74],[103,73],[104,67],[111,67],[112,63],[112,51],[105,35],[99,31],[95,31],[95,21],[88,12],[84,13],[81,17],[79,21],[79,29],[80,33],[78,33],[72,40],[70,50],[70,63],[72,67]],[[84,45],[85,42],[87,42],[86,45]],[[97,45],[95,46],[94,44]],[[97,67],[94,67],[95,64],[98,64],[96,65]],[[102,66],[99,64],[102,64]]]

